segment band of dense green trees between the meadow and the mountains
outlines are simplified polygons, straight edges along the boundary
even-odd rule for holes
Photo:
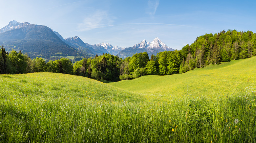
[[[191,45],[181,50],[164,51],[149,58],[146,52],[134,54],[125,59],[104,54],[95,58],[83,58],[74,64],[68,58],[49,60],[41,57],[33,60],[21,51],[10,53],[1,47],[0,73],[58,72],[74,74],[93,79],[119,81],[142,75],[170,75],[183,73],[209,64],[219,64],[256,55],[256,34],[222,31],[218,34],[205,34]]]

